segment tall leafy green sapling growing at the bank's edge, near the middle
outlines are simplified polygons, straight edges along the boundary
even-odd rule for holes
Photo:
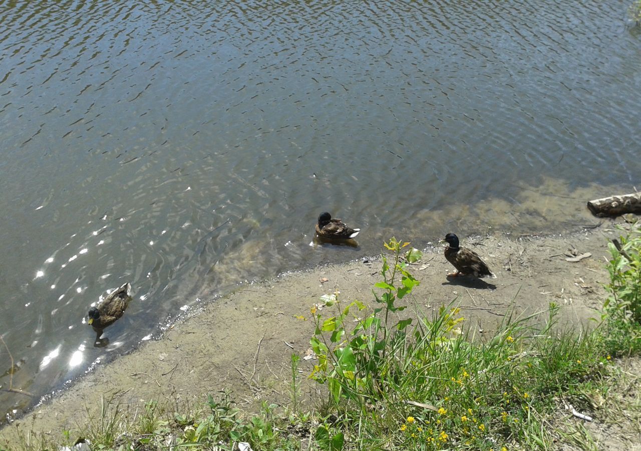
[[[422,254],[414,248],[404,252],[409,244],[395,238],[384,244],[392,252],[391,260],[383,255],[383,280],[374,285],[383,293],[374,291],[376,307],[365,318],[354,316],[356,327],[350,330],[347,324],[354,311],[362,314],[366,309],[365,304],[358,300],[343,305],[337,291],[322,296],[322,304],[312,307],[316,328],[310,343],[319,363],[311,377],[327,384],[335,403],[353,400],[362,404],[382,393],[383,380],[388,376],[392,362],[390,352],[393,353],[394,343],[404,341],[404,330],[412,323],[411,318],[390,318],[390,315],[396,318],[395,315],[405,309],[395,302],[412,293],[419,284],[403,260],[415,262]],[[333,308],[336,313],[324,318],[321,307]]]

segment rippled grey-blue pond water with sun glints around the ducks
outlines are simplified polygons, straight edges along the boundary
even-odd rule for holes
[[[3,413],[238,282],[639,182],[625,1],[208,3],[0,2]],[[310,246],[322,210],[360,246]]]

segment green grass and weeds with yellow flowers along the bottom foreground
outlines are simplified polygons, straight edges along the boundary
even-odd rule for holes
[[[638,377],[615,362],[641,351],[640,235],[633,225],[620,249],[610,248],[610,296],[593,328],[562,330],[560,307],[550,305],[531,316],[506,316],[487,339],[465,327],[455,302],[429,316],[403,317],[399,300],[412,298],[420,283],[405,261],[420,253],[392,239],[372,305],[345,303],[333,293],[310,310],[318,357],[310,377],[327,394],[313,411],[301,411],[292,356],[291,403],[284,408],[265,404],[251,415],[224,393],[196,408],[149,402],[125,412],[104,402],[99,418],[77,433],[23,434],[11,449],[57,450],[79,436],[92,450],[237,450],[242,443],[256,451],[551,450],[560,443],[599,449],[589,424],[565,406],[603,421],[633,418],[638,427],[639,393],[630,391]]]

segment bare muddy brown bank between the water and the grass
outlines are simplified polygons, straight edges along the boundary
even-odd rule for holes
[[[603,303],[601,284],[608,280],[603,257],[608,255],[607,241],[618,235],[607,221],[570,235],[505,234],[463,240],[497,274],[497,279],[487,282],[448,280],[445,275],[453,268],[442,248],[428,248],[412,266],[420,285],[408,303],[430,314],[457,299],[467,325],[477,333],[491,334],[510,305],[517,313],[530,313],[555,302],[563,306],[564,321],[581,323],[596,316],[595,309]],[[591,256],[566,260],[584,253]],[[88,416],[99,416],[101,397],[132,411],[145,400],[187,403],[221,389],[231,391],[248,407],[257,400],[287,400],[290,354],[304,355],[313,332],[310,321],[295,317],[308,316],[319,296],[337,289],[343,300],[371,303],[379,271],[379,260],[358,260],[240,287],[179,323],[162,339],[99,366],[1,434],[12,439],[17,428],[28,428],[58,436],[63,429],[85,423]],[[312,364],[301,361],[303,375]]]

